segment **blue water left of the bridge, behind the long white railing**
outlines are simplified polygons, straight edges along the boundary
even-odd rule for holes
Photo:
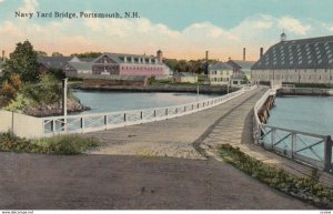
[[[195,93],[130,93],[130,92],[101,92],[101,91],[74,91],[77,98],[90,111],[83,113],[114,112],[125,110],[149,109],[159,106],[171,106],[206,100],[218,94]]]

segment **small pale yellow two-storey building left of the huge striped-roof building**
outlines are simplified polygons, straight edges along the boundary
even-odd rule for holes
[[[216,62],[208,68],[208,79],[211,85],[230,84],[233,68],[224,62]]]

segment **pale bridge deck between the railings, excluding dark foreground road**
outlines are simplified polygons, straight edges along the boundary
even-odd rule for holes
[[[242,112],[224,121],[223,129],[218,133],[221,136],[231,135],[233,141],[241,142],[245,115],[266,90],[256,89],[215,108],[185,116],[88,133],[87,136],[97,137],[104,144],[89,153],[204,159],[196,146],[201,143],[199,141],[202,141],[221,119],[241,108]],[[225,130],[224,126],[230,128],[230,124],[233,124],[233,129]]]

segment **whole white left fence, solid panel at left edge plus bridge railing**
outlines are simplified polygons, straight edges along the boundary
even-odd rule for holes
[[[87,133],[127,125],[161,121],[191,114],[198,111],[219,105],[255,88],[256,85],[244,86],[239,91],[219,98],[186,103],[182,105],[122,112],[33,118],[16,113],[13,114],[16,116],[11,116],[11,112],[0,111],[0,132],[7,132],[11,130],[18,136],[46,137],[56,134]],[[20,115],[20,120],[18,120],[17,115]],[[12,125],[12,123],[19,124],[19,126]]]

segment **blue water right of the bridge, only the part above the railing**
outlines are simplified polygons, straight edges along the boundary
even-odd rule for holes
[[[283,96],[276,98],[268,124],[333,135],[332,96]]]

